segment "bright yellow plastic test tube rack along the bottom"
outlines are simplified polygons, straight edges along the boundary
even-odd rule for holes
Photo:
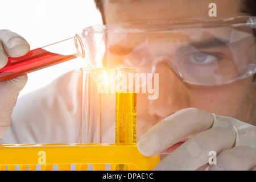
[[[51,171],[53,165],[60,171],[86,171],[88,164],[94,171],[105,171],[106,164],[115,171],[117,164],[125,164],[129,171],[150,171],[160,162],[159,155],[144,156],[136,144],[68,143],[68,144],[2,144],[0,145],[0,170]]]

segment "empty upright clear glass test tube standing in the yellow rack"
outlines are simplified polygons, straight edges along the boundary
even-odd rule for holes
[[[102,68],[81,68],[81,144],[101,143]]]

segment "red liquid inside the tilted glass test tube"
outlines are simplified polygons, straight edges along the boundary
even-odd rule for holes
[[[0,81],[9,80],[75,58],[74,55],[64,56],[37,48],[21,57],[9,57],[6,66],[0,69]]]

